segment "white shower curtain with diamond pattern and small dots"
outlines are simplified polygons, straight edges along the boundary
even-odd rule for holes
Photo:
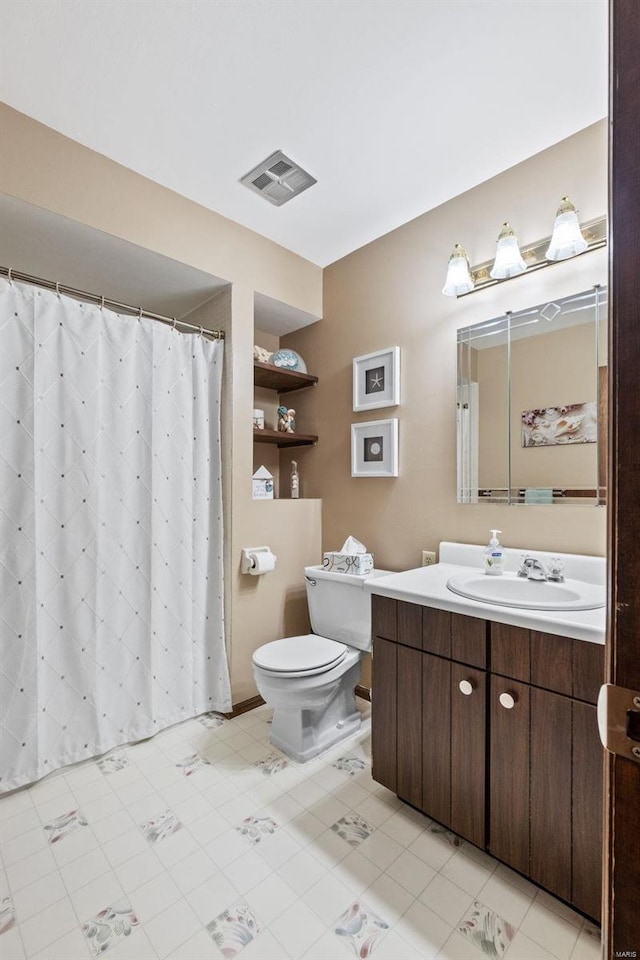
[[[0,280],[0,792],[231,708],[223,344]]]

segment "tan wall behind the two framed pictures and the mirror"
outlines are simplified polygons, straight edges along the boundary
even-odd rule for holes
[[[456,330],[520,310],[593,283],[606,283],[605,250],[558,263],[461,300],[441,294],[456,242],[472,263],[489,259],[503,220],[522,244],[548,236],[558,202],[568,194],[588,220],[607,209],[604,121],[443,204],[326,268],[324,319],[283,338],[318,375],[298,411],[320,441],[299,455],[310,496],[323,500],[323,546],[348,533],[363,540],[380,567],[420,562],[420,550],[443,539],[484,543],[489,527],[506,546],[605,552],[605,511],[582,506],[456,503]],[[354,356],[398,344],[402,403],[354,414]],[[353,479],[350,424],[397,416],[400,476]]]

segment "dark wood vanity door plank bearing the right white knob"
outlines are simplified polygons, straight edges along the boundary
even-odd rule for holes
[[[508,695],[513,700],[504,697]],[[491,677],[489,845],[499,860],[529,872],[529,687]],[[506,705],[505,705],[506,704]]]

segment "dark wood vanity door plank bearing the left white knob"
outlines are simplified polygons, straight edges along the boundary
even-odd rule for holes
[[[451,829],[485,845],[487,684],[481,670],[451,664]]]

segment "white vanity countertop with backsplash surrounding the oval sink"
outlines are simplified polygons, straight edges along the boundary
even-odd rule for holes
[[[447,549],[455,547],[456,550]],[[587,640],[590,643],[604,644],[606,627],[606,607],[597,610],[524,610],[520,607],[497,606],[479,600],[468,600],[460,597],[447,588],[447,580],[456,574],[469,573],[475,568],[480,571],[477,562],[478,550],[481,547],[469,545],[469,552],[461,551],[460,547],[466,544],[441,544],[440,555],[451,559],[461,558],[468,560],[462,563],[440,562],[430,567],[417,567],[415,570],[405,570],[402,573],[392,573],[388,576],[378,576],[367,580],[365,589],[381,597],[391,597],[394,600],[406,600],[418,603],[425,607],[436,607],[438,610],[449,610],[452,613],[462,613],[481,620],[495,620],[498,623],[510,623],[516,627],[525,627],[528,630],[540,630],[544,633],[555,633],[561,637],[572,637],[574,640]],[[444,549],[443,549],[444,548]],[[531,556],[544,557],[540,551],[510,551],[514,554],[513,564],[517,565],[520,553],[526,552]],[[554,554],[554,556],[557,554]],[[571,554],[560,554],[565,559],[565,570],[570,568],[572,558],[574,567],[580,567],[583,574],[579,579],[591,582],[604,581],[604,560],[595,557],[577,557]],[[601,567],[599,563],[601,562]],[[509,564],[512,566],[512,564]],[[589,572],[584,575],[584,570]],[[578,572],[576,570],[576,572]],[[576,577],[578,579],[578,577]]]

